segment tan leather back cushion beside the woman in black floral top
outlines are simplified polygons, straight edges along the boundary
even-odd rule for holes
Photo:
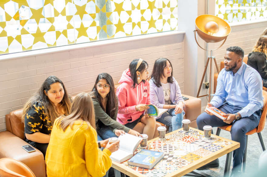
[[[12,128],[12,133],[21,139],[24,139],[24,122],[22,122],[23,109],[10,112],[9,119]]]

